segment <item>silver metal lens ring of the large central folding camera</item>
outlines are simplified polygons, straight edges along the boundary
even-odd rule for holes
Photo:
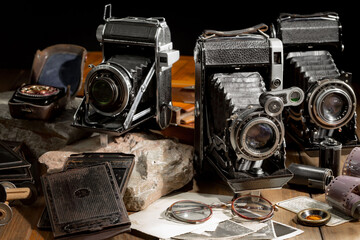
[[[265,113],[254,113],[248,115],[244,119],[235,120],[236,123],[233,126],[231,136],[231,144],[235,149],[235,152],[243,157],[246,160],[258,161],[270,157],[274,154],[276,149],[279,147],[282,139],[284,138],[284,126],[283,124]],[[267,127],[271,128],[272,138],[271,138],[271,147],[264,149],[254,149],[246,144],[246,138],[248,137],[248,131],[257,124],[264,124]]]

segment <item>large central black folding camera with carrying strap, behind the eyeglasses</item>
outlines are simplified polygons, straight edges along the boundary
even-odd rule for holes
[[[292,177],[282,111],[304,93],[282,88],[282,43],[267,29],[207,30],[195,46],[195,165],[205,174],[212,166],[234,192],[281,187]]]

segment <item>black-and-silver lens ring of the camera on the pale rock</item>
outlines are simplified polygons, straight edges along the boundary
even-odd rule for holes
[[[94,86],[102,82],[106,84],[112,93],[112,97],[106,104],[98,102],[94,96]],[[105,85],[104,85],[105,86]],[[86,101],[96,112],[104,116],[116,116],[127,106],[130,98],[131,82],[127,73],[114,64],[100,64],[94,67],[86,77],[85,97]]]

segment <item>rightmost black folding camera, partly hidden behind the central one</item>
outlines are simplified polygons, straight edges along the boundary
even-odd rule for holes
[[[274,35],[282,40],[285,86],[298,86],[304,102],[286,112],[287,133],[309,154],[326,137],[343,148],[359,144],[352,74],[338,69],[343,50],[336,13],[281,14]],[[316,151],[315,151],[316,150]]]

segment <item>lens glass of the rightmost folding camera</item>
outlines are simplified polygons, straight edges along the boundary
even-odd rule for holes
[[[347,107],[348,102],[342,94],[330,93],[321,101],[320,115],[327,121],[337,121],[347,112]]]

